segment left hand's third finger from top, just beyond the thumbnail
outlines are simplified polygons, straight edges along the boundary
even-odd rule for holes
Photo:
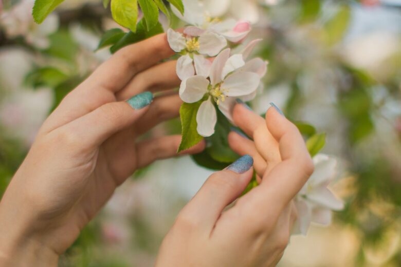
[[[159,123],[178,117],[179,107],[182,103],[183,101],[181,101],[178,94],[156,98],[148,112],[135,122],[135,133],[142,135],[142,133],[149,131]]]

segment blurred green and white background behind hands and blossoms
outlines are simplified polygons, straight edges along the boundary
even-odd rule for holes
[[[231,1],[227,12],[254,23],[258,55],[269,61],[253,108],[275,102],[326,132],[323,152],[340,162],[332,189],[344,211],[291,238],[280,266],[401,266],[401,0]],[[32,6],[0,0],[0,195],[49,112],[110,57],[96,51],[102,33],[119,27],[101,0],[66,0],[41,25]],[[152,135],[179,130],[174,120]],[[138,171],[60,266],[152,265],[210,173],[190,157]]]

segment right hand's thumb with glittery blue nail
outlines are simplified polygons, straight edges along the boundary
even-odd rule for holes
[[[212,174],[181,211],[177,221],[184,220],[211,231],[224,208],[244,192],[252,178],[252,164],[252,157],[245,155]]]

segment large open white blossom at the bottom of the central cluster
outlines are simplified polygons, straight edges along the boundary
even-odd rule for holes
[[[196,116],[197,131],[204,137],[213,135],[217,122],[213,102],[226,115],[229,112],[228,106],[235,99],[254,96],[261,78],[249,70],[242,54],[230,56],[229,48],[216,56],[209,72],[209,79],[195,75],[181,82],[179,89],[179,96],[186,103],[195,103],[205,98]]]

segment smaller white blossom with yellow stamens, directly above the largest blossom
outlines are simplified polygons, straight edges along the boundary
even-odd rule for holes
[[[227,46],[226,39],[213,32],[190,36],[169,29],[167,40],[171,49],[185,54],[177,61],[177,75],[181,80],[193,76],[195,71],[198,75],[208,77],[212,63],[204,55],[215,56]]]

